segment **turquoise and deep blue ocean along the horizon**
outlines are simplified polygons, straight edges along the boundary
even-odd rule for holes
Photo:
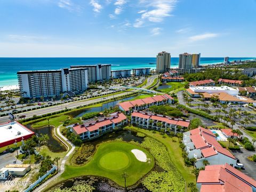
[[[234,60],[255,58],[229,58]],[[200,65],[223,62],[223,58],[201,58]],[[71,65],[111,64],[112,70],[156,68],[156,58],[0,58],[0,87],[18,85],[17,71],[68,68]],[[154,63],[154,64],[150,64]],[[179,58],[171,58],[171,68],[178,67]]]

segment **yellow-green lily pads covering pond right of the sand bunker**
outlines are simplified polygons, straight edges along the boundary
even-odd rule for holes
[[[172,163],[165,146],[148,137],[141,143],[141,146],[149,149],[156,160],[156,164],[164,170],[164,172],[153,171],[147,175],[142,181],[143,186],[153,192],[185,191],[185,181]]]

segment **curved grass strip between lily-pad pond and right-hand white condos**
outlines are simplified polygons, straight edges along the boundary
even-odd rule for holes
[[[188,183],[196,182],[195,175],[191,173],[191,171],[193,170],[193,167],[192,166],[187,167],[183,161],[183,158],[181,156],[182,151],[181,151],[181,148],[179,147],[180,143],[178,141],[178,138],[176,137],[174,137],[173,139],[170,137],[163,138],[163,136],[158,132],[153,133],[150,130],[140,129],[134,126],[127,126],[124,129],[129,129],[129,130],[134,130],[136,132],[144,133],[148,137],[151,137],[153,139],[156,139],[159,142],[162,142],[165,145],[175,167],[181,173],[182,177],[185,179],[187,188],[188,188]]]

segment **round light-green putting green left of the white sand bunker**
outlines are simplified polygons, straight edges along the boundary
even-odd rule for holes
[[[121,170],[129,165],[129,157],[121,151],[113,151],[103,155],[99,164],[107,170]]]

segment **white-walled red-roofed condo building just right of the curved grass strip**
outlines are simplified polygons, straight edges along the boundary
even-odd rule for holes
[[[197,129],[183,133],[183,143],[188,158],[196,158],[195,166],[203,167],[203,161],[210,165],[228,163],[236,165],[236,158],[225,148],[221,147],[217,137],[210,130],[199,126]]]

